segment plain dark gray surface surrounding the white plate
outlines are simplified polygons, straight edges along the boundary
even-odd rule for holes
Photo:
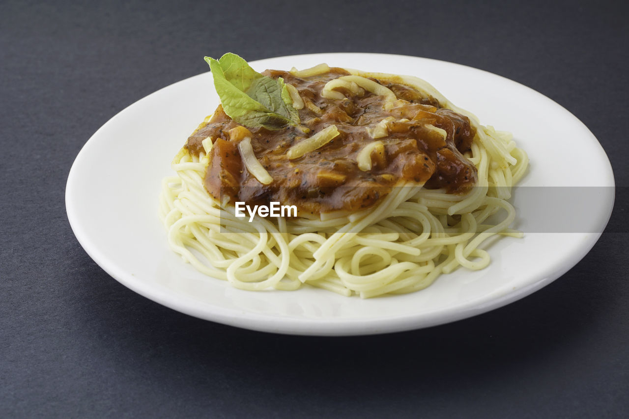
[[[82,250],[64,205],[94,131],[228,51],[388,52],[503,75],[581,119],[628,186],[621,2],[67,3],[0,2],[0,416],[629,414],[629,235],[613,226],[553,284],[491,313],[312,338],[133,293]],[[621,196],[613,223],[626,208]]]

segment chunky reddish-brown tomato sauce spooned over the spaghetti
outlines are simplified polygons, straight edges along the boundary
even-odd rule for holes
[[[441,108],[436,99],[423,98],[409,86],[372,79],[408,101],[384,109],[382,96],[369,92],[355,96],[337,89],[347,98],[323,98],[321,91],[326,82],[348,74],[343,69],[333,68],[326,74],[305,78],[280,70],[266,70],[263,74],[282,77],[298,89],[304,102],[310,101],[320,111],[312,106],[300,109],[302,128],[248,128],[253,134],[253,152],[273,178],[272,183],[264,185],[248,172],[237,139],[230,138],[231,128],[240,125],[219,106],[211,120],[201,124],[185,145],[191,154],[198,155],[203,150],[201,142],[207,137],[213,139],[204,184],[214,198],[228,194],[231,203],[279,201],[296,205],[301,214],[318,215],[367,208],[390,193],[392,187],[406,182],[425,183],[431,189],[444,187],[449,193],[462,193],[476,183],[476,167],[463,156],[470,149],[476,130],[467,116]],[[395,118],[388,125],[389,135],[378,138],[384,143],[384,155],[372,152],[372,169],[360,170],[360,149],[375,141],[365,127],[389,116]],[[408,121],[399,121],[402,118]],[[445,130],[447,138],[444,140],[438,132],[426,128],[428,124]],[[286,157],[292,145],[330,125],[336,125],[340,131],[336,138],[298,159]],[[304,133],[303,127],[309,133]]]

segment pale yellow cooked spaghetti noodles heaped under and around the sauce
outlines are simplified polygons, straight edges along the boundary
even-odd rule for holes
[[[303,72],[293,70],[292,75],[316,79],[329,71],[330,67],[320,65]],[[162,182],[159,212],[172,250],[203,274],[229,281],[240,289],[294,290],[309,284],[345,296],[358,294],[368,298],[418,291],[441,274],[460,266],[483,269],[490,262],[489,254],[480,247],[487,238],[497,234],[521,236],[520,232],[509,228],[515,219],[515,210],[508,199],[511,186],[525,173],[528,158],[516,147],[509,133],[480,125],[474,115],[457,108],[434,87],[416,77],[347,72],[350,75],[338,77],[337,74],[333,78],[337,82],[321,82],[324,86],[321,92],[325,86],[333,87],[325,93],[331,96],[328,100],[371,95],[383,98],[382,109],[395,109],[399,105],[396,101],[404,99],[396,94],[391,97],[391,90],[385,87],[389,82],[413,89],[422,98],[438,103],[439,108],[469,118],[476,132],[469,150],[462,155],[476,169],[474,186],[463,191],[448,187],[427,189],[426,179],[399,178],[386,193],[362,209],[325,211],[326,207],[321,204],[317,214],[307,211],[314,208],[313,205],[301,206],[298,217],[256,217],[250,223],[236,216],[233,193],[218,196],[208,188],[208,174],[220,140],[207,137],[196,152],[192,152],[191,147],[182,148],[172,163],[176,176]],[[287,91],[292,98],[297,95],[301,99],[293,99],[297,104],[295,108],[300,108],[299,115],[311,112],[319,116],[322,108],[312,98],[300,96],[292,84],[287,86],[291,86]],[[317,109],[310,110],[313,106]],[[381,137],[377,134],[378,123],[383,119],[371,125],[374,137],[370,138],[368,147],[356,148],[356,170],[365,172],[364,176],[369,170],[375,170],[377,160],[374,159],[385,150],[386,132],[381,133]],[[209,121],[208,117],[206,124]],[[430,124],[426,124],[425,129],[434,135],[447,135],[442,128],[427,125]],[[330,126],[335,127],[328,129],[335,132],[333,135],[343,131],[341,125]],[[303,125],[301,129],[305,130]],[[318,147],[320,150],[331,147],[328,142],[334,138],[332,134],[316,135],[312,133],[309,138],[315,137],[315,140],[310,143],[309,138],[304,138],[303,147],[287,145],[287,150],[293,147],[292,159],[315,153]],[[240,141],[241,151],[251,150],[247,152],[248,157],[241,156],[247,165],[243,170],[248,173],[247,169],[255,166],[251,171],[257,170],[263,178],[259,183],[270,187],[274,172],[270,169],[267,172],[258,160],[247,160],[252,155],[256,157],[250,137],[240,138]],[[360,154],[360,150],[365,149],[367,151]],[[289,195],[284,194],[285,200],[286,196]],[[498,222],[489,221],[498,215]]]

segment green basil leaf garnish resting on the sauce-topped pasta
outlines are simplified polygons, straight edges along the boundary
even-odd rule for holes
[[[299,113],[284,81],[253,70],[245,60],[226,53],[220,60],[205,57],[214,77],[214,87],[223,110],[234,121],[249,127],[277,130],[297,125]]]

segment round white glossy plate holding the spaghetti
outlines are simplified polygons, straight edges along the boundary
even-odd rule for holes
[[[199,62],[202,57],[199,56]],[[414,294],[347,298],[330,291],[251,292],[205,277],[167,245],[157,217],[162,177],[188,135],[218,105],[209,72],[132,104],[103,125],[77,156],[65,195],[72,230],[92,259],[133,291],[177,311],[227,325],[301,335],[363,335],[429,327],[520,299],[557,279],[598,240],[613,206],[603,148],[581,121],[542,94],[463,65],[400,55],[330,53],[252,62],[259,71],[327,62],[416,75],[484,125],[511,131],[531,160],[527,186],[609,186],[591,205],[590,233],[527,233],[488,248],[486,269],[458,269]],[[201,65],[201,64],[200,64]],[[561,158],[558,158],[560,156]],[[571,170],[586,161],[586,169]],[[580,166],[579,166],[580,167]],[[543,203],[515,196],[520,228]],[[547,208],[554,211],[554,208]]]

